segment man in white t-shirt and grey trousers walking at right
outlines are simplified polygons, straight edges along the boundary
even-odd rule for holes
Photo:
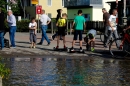
[[[108,38],[107,38],[107,41],[105,42],[104,47],[107,47],[107,44],[109,43],[112,36],[115,39],[119,38],[119,36],[117,34],[116,15],[117,15],[117,10],[114,9],[112,12],[112,15],[110,15],[110,18],[109,18]],[[117,44],[117,46],[119,45],[118,42],[116,42],[116,44]]]

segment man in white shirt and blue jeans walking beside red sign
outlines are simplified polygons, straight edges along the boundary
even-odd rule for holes
[[[41,12],[40,21],[41,21],[42,39],[38,44],[42,45],[44,39],[46,39],[46,41],[48,42],[47,45],[50,45],[50,40],[46,34],[46,30],[47,30],[48,24],[51,22],[51,19],[45,14],[45,10],[42,10]]]

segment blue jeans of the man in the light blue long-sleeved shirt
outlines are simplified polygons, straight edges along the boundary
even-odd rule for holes
[[[11,26],[9,31],[9,36],[10,36],[10,42],[12,47],[15,47],[15,32],[16,32],[16,26]]]

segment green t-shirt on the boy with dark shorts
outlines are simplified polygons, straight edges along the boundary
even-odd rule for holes
[[[74,23],[75,23],[75,30],[83,30],[85,18],[83,16],[78,15],[74,18]]]

